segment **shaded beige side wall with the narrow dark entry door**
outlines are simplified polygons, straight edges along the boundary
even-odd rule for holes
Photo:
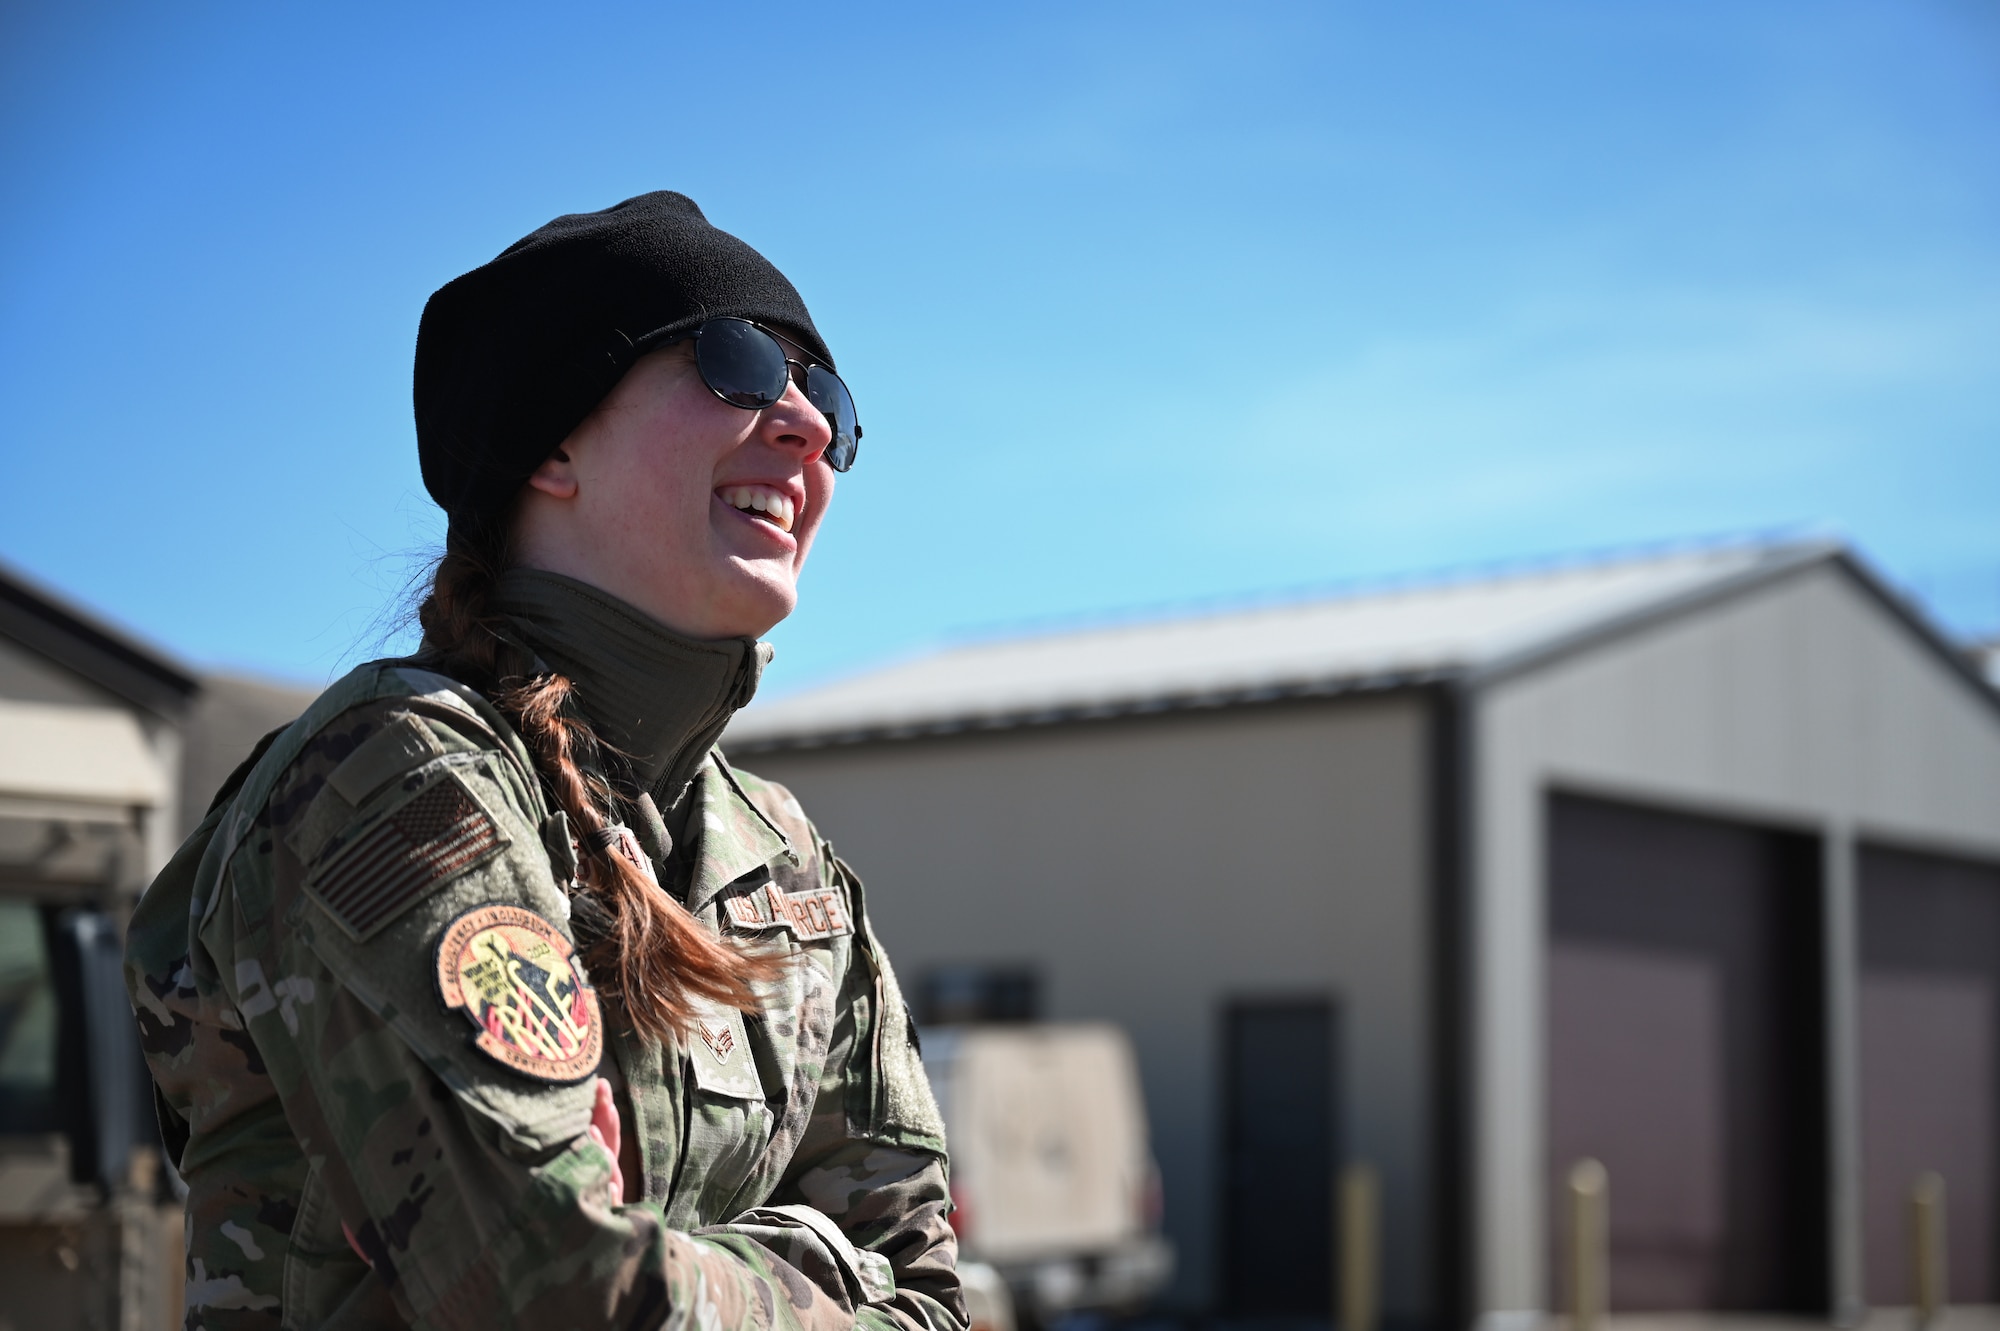
[[[1220,1007],[1334,991],[1348,1147],[1384,1173],[1386,1311],[1420,1315],[1426,755],[1428,705],[1400,693],[744,765],[788,783],[860,871],[906,989],[934,963],[1030,959],[1046,1015],[1132,1033],[1186,1303],[1214,1279]]]

